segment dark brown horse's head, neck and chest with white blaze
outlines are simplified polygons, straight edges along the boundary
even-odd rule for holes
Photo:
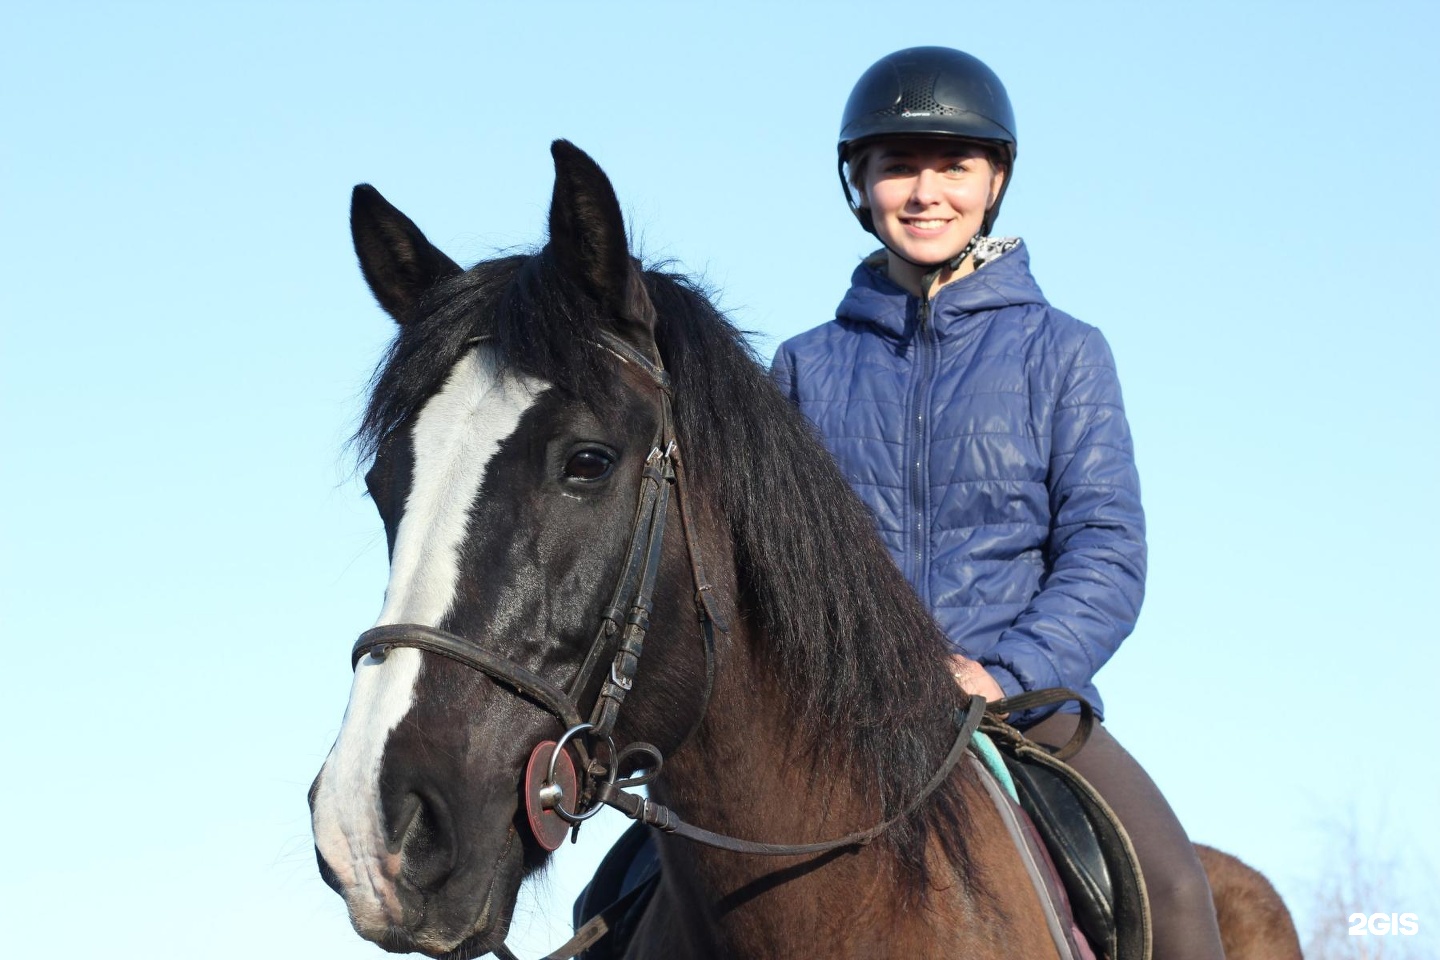
[[[310,802],[356,931],[508,956],[556,842],[534,787],[563,832],[626,766],[651,823],[861,838],[658,830],[626,957],[1056,957],[975,766],[946,766],[968,698],[868,512],[704,291],[632,258],[599,166],[552,154],[547,245],[469,269],[353,194],[397,322],[356,435],[390,574]]]

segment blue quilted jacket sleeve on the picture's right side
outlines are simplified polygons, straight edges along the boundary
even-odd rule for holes
[[[1145,597],[1145,512],[1120,381],[1089,330],[1051,420],[1050,540],[1041,590],[981,658],[1007,695],[1081,688],[1135,629]],[[1053,710],[1017,715],[1028,725]]]

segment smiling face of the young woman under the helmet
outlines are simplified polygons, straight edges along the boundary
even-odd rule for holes
[[[864,154],[861,206],[890,250],[890,275],[904,284],[971,242],[1005,181],[979,144],[888,140]],[[920,266],[916,266],[920,265]],[[956,276],[963,275],[958,272]]]

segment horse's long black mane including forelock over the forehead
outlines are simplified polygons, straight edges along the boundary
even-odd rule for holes
[[[651,269],[645,288],[688,475],[729,518],[742,602],[768,638],[796,730],[848,754],[886,815],[899,812],[955,737],[960,694],[943,669],[945,638],[744,334],[685,276]],[[544,252],[485,261],[441,282],[376,370],[354,438],[360,455],[373,456],[419,410],[475,337],[559,390],[613,400],[613,358],[595,344],[595,309]],[[932,835],[952,862],[969,865],[962,807],[950,777],[922,813],[886,833],[912,877],[926,877]]]

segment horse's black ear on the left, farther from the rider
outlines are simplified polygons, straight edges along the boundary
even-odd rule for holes
[[[455,261],[441,253],[410,217],[369,183],[359,184],[350,194],[350,236],[370,291],[384,312],[402,325],[415,318],[420,294],[461,272]]]

